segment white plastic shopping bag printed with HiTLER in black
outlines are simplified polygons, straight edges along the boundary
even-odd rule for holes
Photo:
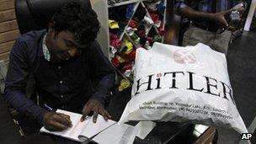
[[[131,100],[120,122],[192,121],[247,132],[233,99],[224,54],[204,44],[155,42],[136,50]]]

